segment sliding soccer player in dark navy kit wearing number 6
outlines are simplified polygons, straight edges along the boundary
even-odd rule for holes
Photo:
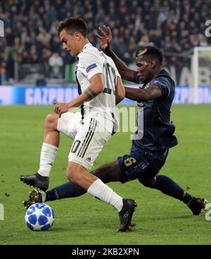
[[[200,215],[207,200],[193,197],[170,177],[158,175],[165,164],[170,147],[177,145],[177,138],[174,136],[175,127],[170,120],[174,80],[162,68],[161,50],[153,46],[139,48],[136,52],[137,71],[132,71],[111,49],[110,28],[104,29],[99,28],[101,35],[97,35],[101,40],[101,49],[113,59],[122,78],[139,84],[139,89],[125,87],[126,97],[135,100],[138,105],[138,127],[129,155],[103,164],[91,174],[96,175],[104,183],[110,181],[125,183],[138,179],[143,186],[157,189],[165,195],[181,200],[188,205],[193,215]],[[39,184],[34,183],[34,186],[39,187]],[[86,191],[75,183],[68,182],[46,193],[34,189],[23,203],[25,207],[29,207],[34,202],[77,197],[84,193]]]

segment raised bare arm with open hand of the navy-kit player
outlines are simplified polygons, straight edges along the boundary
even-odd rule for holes
[[[100,34],[96,33],[96,37],[101,41],[101,49],[110,56],[111,59],[113,59],[122,78],[137,83],[134,78],[136,71],[127,68],[126,64],[124,64],[124,62],[111,49],[113,37],[110,27],[106,27],[106,25],[104,25],[103,29],[99,27],[98,30]]]

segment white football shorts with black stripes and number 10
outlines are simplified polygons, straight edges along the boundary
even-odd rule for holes
[[[82,121],[80,112],[62,114],[57,129],[74,139],[68,161],[81,164],[87,170],[112,136],[96,119],[87,117]]]

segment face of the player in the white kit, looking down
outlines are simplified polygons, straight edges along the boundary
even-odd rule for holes
[[[63,49],[67,50],[71,56],[79,54],[79,42],[77,40],[77,32],[73,35],[68,34],[65,30],[60,32],[60,42],[63,44]]]

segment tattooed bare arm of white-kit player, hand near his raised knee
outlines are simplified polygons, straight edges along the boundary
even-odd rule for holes
[[[61,114],[68,112],[69,109],[73,107],[79,107],[84,102],[89,102],[90,100],[94,99],[94,97],[103,92],[104,87],[101,73],[96,73],[94,76],[92,76],[89,80],[89,83],[89,88],[87,88],[87,90],[85,90],[81,95],[76,97],[71,102],[53,102],[53,104],[55,104],[54,112],[61,116]]]

